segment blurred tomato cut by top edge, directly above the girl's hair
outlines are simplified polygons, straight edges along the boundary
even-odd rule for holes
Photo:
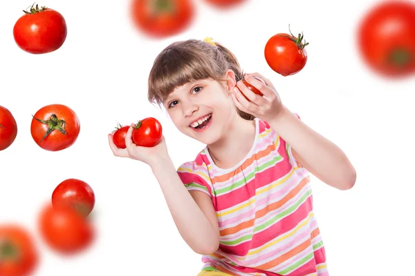
[[[192,0],[132,0],[131,17],[149,37],[169,37],[190,26],[194,4]]]

